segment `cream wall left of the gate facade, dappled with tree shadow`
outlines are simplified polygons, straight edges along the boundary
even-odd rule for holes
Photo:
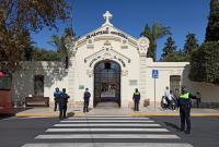
[[[13,74],[13,101],[24,101],[28,95],[34,95],[34,76],[44,75],[44,96],[54,100],[56,87],[67,88],[68,70],[62,62],[23,62],[22,69]]]

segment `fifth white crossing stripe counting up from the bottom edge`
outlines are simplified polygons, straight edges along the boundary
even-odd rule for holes
[[[126,122],[126,123],[134,123],[134,122],[154,122],[154,121],[146,121],[146,120],[65,120],[65,121],[61,121],[61,122],[76,122],[76,123],[81,123],[81,122],[91,122],[91,123],[110,123],[110,122]]]

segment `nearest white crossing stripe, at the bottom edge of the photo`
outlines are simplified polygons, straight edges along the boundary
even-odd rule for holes
[[[184,143],[48,143],[26,144],[22,147],[193,147]]]

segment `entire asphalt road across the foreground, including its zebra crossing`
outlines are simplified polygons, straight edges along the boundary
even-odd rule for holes
[[[193,132],[177,132],[178,118],[90,117],[0,120],[1,147],[218,147],[219,118],[194,118]],[[206,127],[208,126],[208,127]]]

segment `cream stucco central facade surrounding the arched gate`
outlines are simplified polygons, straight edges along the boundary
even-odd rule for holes
[[[105,29],[104,27],[101,29]],[[112,28],[113,30],[114,28]],[[93,93],[94,93],[94,65],[103,60],[112,60],[117,62],[122,68],[120,74],[120,94],[122,94],[122,106],[127,106],[131,100],[131,96],[135,88],[138,88],[139,85],[129,86],[130,79],[136,79],[139,83],[139,53],[136,47],[134,47],[127,39],[124,39],[118,36],[112,35],[101,35],[92,38],[92,44],[89,44],[85,38],[82,37],[81,41],[84,41],[83,45],[78,46],[76,58],[72,65],[76,66],[77,73],[74,74],[74,88],[72,98],[76,101],[81,101],[83,98],[84,89],[79,89],[79,85],[84,85],[91,91],[91,106],[93,105]],[[126,40],[126,45],[123,45],[123,41]],[[92,47],[89,48],[88,46]],[[126,46],[123,48],[122,46]],[[110,49],[106,51],[106,49]],[[104,51],[105,50],[105,51]],[[102,51],[100,59],[95,60],[90,66],[93,59],[96,58],[95,53]],[[93,56],[93,57],[92,57]],[[124,58],[125,66],[123,63],[115,59],[114,57]],[[89,58],[87,62],[84,59]],[[130,61],[128,61],[129,59]]]

